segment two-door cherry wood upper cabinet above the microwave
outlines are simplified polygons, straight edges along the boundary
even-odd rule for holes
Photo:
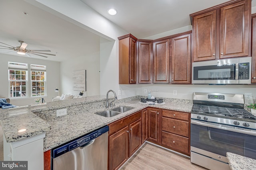
[[[193,61],[251,55],[251,0],[234,0],[190,14]]]

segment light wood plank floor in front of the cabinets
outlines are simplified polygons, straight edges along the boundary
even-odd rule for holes
[[[144,145],[120,170],[206,170],[190,159],[150,143]]]

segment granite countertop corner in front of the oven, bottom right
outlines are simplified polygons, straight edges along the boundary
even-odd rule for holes
[[[256,160],[227,152],[228,163],[231,170],[255,170]]]

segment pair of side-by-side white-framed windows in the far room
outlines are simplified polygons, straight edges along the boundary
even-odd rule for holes
[[[46,66],[8,62],[8,76],[10,98],[46,96]]]

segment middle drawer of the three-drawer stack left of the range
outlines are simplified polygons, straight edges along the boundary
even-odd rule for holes
[[[188,126],[189,123],[187,121],[162,117],[162,131],[188,137]]]

